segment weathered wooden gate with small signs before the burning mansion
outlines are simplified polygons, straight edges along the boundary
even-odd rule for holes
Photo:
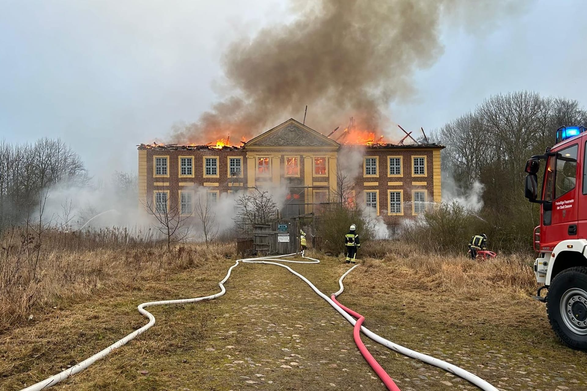
[[[300,250],[299,219],[255,224],[253,246],[258,255],[291,254]]]

